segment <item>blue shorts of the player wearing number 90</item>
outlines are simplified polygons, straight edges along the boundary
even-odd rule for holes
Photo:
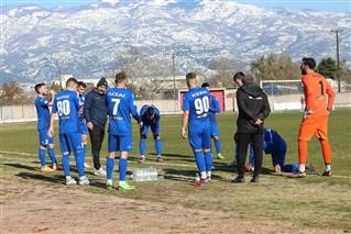
[[[194,151],[211,148],[210,127],[204,126],[196,130],[189,129],[189,144]]]

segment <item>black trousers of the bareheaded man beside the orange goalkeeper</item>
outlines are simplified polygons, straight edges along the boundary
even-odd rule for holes
[[[238,147],[238,175],[239,177],[244,177],[245,160],[248,155],[248,146],[252,144],[253,153],[255,157],[254,172],[253,177],[260,175],[262,168],[262,157],[263,157],[263,134],[245,134],[237,133],[235,142]]]

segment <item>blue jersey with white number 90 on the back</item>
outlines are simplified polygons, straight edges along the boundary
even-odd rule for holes
[[[209,110],[210,96],[206,88],[193,88],[184,94],[183,111],[189,111],[189,129],[201,129],[209,121]]]

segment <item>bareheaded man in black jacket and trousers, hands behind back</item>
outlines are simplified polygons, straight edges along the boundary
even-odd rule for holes
[[[244,166],[249,144],[255,155],[254,172],[251,182],[259,182],[263,156],[263,122],[271,112],[270,103],[263,90],[253,83],[251,76],[237,73],[233,77],[239,86],[237,103],[239,116],[234,140],[238,147],[238,177],[232,182],[244,182]]]

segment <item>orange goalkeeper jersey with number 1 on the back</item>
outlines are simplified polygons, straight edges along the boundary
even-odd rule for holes
[[[331,110],[336,94],[323,76],[310,71],[303,76],[306,109],[318,115],[325,115]]]

